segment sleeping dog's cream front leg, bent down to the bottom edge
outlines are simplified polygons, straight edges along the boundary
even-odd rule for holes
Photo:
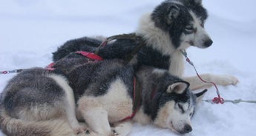
[[[78,101],[79,112],[89,128],[97,135],[111,135],[108,112],[92,97],[82,97]]]

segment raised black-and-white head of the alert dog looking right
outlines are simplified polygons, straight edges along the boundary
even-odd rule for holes
[[[204,29],[207,16],[202,0],[167,0],[155,8],[151,19],[170,35],[176,49],[206,48],[213,43]]]

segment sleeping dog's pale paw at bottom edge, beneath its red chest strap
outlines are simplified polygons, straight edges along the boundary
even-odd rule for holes
[[[114,128],[112,129],[112,131],[114,132],[114,135],[126,136],[131,132],[131,129],[132,129],[131,121],[125,121],[122,123],[114,124]]]

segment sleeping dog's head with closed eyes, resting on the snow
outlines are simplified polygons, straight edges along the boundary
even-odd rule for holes
[[[198,94],[193,94],[188,89],[189,84],[185,81],[177,81],[168,85],[165,92],[160,96],[159,109],[154,124],[163,128],[168,128],[179,134],[192,131],[191,117],[199,103],[204,90]]]

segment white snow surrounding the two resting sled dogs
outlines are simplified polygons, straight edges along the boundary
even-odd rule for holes
[[[85,35],[130,33],[143,13],[161,0],[0,0],[0,71],[45,67],[51,52],[65,41]],[[256,1],[205,0],[206,30],[214,41],[206,50],[191,48],[188,55],[200,73],[229,74],[237,86],[220,86],[225,99],[256,100]],[[0,92],[16,74],[0,75]],[[195,75],[186,65],[186,75]],[[209,89],[205,99],[215,96]],[[188,136],[256,135],[255,103],[201,103]],[[1,135],[1,134],[0,134]],[[176,135],[167,129],[135,124],[131,135]]]

